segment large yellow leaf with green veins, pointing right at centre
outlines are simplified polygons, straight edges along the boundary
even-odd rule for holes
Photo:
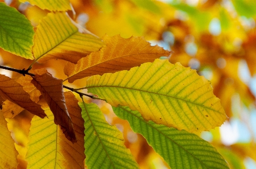
[[[147,121],[188,132],[207,131],[226,119],[209,81],[168,60],[156,59],[129,71],[92,76],[86,88],[112,106],[129,106]]]

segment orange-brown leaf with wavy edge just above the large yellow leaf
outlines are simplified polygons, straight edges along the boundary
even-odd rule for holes
[[[78,60],[77,64],[68,63],[64,68],[69,83],[74,80],[92,75],[103,75],[121,70],[129,70],[145,62],[170,55],[170,51],[159,46],[150,46],[142,37],[122,38],[104,36],[106,43],[100,51],[95,51],[85,58]]]

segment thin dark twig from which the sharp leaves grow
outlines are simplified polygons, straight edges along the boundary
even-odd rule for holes
[[[18,72],[18,73],[22,74],[23,76],[25,76],[25,75],[35,76],[35,74],[28,72],[30,69],[27,69],[27,70],[25,70],[25,69],[23,69],[23,70],[18,70],[18,69],[16,69],[16,68],[10,68],[10,67],[5,67],[5,66],[1,66],[1,65],[0,65],[0,68],[5,69],[5,70],[9,70],[9,71],[13,71],[13,72]],[[103,100],[103,101],[106,101],[105,99],[98,98],[98,97],[95,97],[95,96],[93,96],[93,95],[89,95],[89,94],[86,94],[86,93],[77,92],[77,89],[70,88],[69,86],[63,85],[63,88],[69,89],[69,90],[71,90],[72,92],[75,92],[75,93],[79,94],[79,96],[87,96],[87,97],[90,97],[90,98],[92,98],[92,99],[101,99],[101,100]]]

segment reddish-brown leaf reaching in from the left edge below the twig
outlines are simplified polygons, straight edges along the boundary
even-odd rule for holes
[[[0,95],[40,118],[46,116],[41,106],[33,102],[30,95],[23,90],[22,85],[5,75],[0,75]]]

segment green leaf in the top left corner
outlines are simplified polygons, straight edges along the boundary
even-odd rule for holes
[[[0,47],[26,59],[33,59],[33,27],[15,8],[0,2]]]

